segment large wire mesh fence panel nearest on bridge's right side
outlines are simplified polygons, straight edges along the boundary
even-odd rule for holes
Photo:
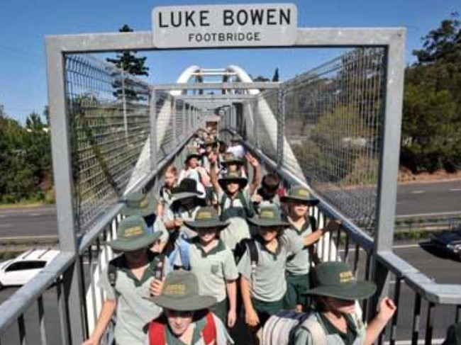
[[[384,48],[359,48],[282,86],[285,165],[362,228],[377,205],[384,72]]]

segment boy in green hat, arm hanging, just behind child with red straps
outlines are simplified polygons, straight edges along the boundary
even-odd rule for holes
[[[210,310],[228,327],[233,327],[237,318],[238,271],[232,251],[219,238],[229,223],[221,221],[211,207],[200,208],[193,222],[184,223],[198,234],[189,242],[189,265],[198,278],[199,293],[214,296],[217,302]]]

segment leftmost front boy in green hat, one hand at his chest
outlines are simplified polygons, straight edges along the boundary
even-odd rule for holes
[[[160,293],[163,285],[161,276],[168,270],[167,261],[160,254],[148,250],[159,237],[160,232],[148,232],[140,215],[126,217],[120,222],[117,239],[108,245],[123,254],[113,259],[101,275],[98,285],[106,293],[106,300],[93,334],[83,345],[99,344],[115,312],[116,344],[145,343],[147,336],[143,327],[162,312],[159,305],[145,298]],[[155,279],[155,276],[160,279]]]

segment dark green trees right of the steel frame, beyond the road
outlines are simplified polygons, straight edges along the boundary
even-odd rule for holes
[[[461,24],[442,21],[407,67],[401,165],[413,173],[461,168]]]

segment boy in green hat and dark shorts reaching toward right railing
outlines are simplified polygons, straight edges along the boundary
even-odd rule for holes
[[[285,295],[285,308],[302,312],[309,307],[305,294],[309,290],[313,244],[326,230],[317,229],[315,218],[309,216],[309,207],[317,205],[318,199],[313,198],[307,188],[294,186],[286,196],[280,198],[280,201],[287,205],[286,220],[289,227],[285,229],[285,233],[305,240],[303,250],[287,260],[287,294]]]

